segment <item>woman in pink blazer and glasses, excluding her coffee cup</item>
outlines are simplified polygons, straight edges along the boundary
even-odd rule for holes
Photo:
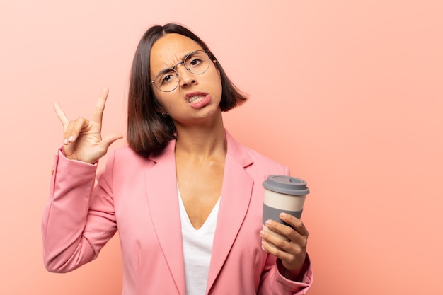
[[[132,65],[128,147],[98,160],[122,134],[101,137],[108,90],[91,120],[67,120],[43,216],[45,266],[68,272],[119,231],[122,294],[305,294],[308,231],[293,216],[261,231],[263,187],[289,169],[241,146],[222,112],[246,98],[199,37],[157,25]],[[275,245],[276,247],[272,247]]]

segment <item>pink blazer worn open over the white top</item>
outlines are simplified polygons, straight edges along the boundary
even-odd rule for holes
[[[224,183],[206,294],[306,294],[303,282],[279,272],[280,261],[261,249],[263,180],[289,169],[238,144],[228,132]],[[59,151],[42,219],[44,260],[69,272],[95,259],[119,231],[123,295],[185,295],[175,141],[147,158],[113,151],[96,181],[96,165],[69,161]],[[198,181],[196,179],[195,181]]]

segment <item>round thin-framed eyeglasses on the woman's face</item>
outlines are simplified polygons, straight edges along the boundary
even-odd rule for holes
[[[204,50],[195,50],[186,55],[183,62],[179,62],[172,68],[162,69],[159,71],[151,84],[154,83],[159,91],[171,92],[175,90],[180,82],[180,77],[178,76],[177,66],[183,64],[185,69],[190,73],[201,75],[209,69],[209,55]]]

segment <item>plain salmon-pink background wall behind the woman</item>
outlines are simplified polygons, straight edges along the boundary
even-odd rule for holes
[[[125,132],[135,47],[169,21],[250,94],[231,134],[308,181],[310,294],[442,294],[443,2],[220,2],[0,2],[0,294],[120,294],[117,238],[76,272],[42,265],[52,103],[89,117],[108,86],[104,133]]]

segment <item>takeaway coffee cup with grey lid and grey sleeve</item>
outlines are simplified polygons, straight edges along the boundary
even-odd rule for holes
[[[265,187],[265,195],[263,198],[263,230],[287,240],[286,237],[268,229],[267,226],[265,226],[265,221],[272,219],[286,224],[279,217],[279,214],[282,212],[291,214],[299,219],[301,212],[303,212],[304,200],[306,199],[306,195],[309,194],[309,187],[306,181],[287,175],[269,175],[267,180],[263,182],[263,187]],[[286,225],[290,226],[289,224]]]

